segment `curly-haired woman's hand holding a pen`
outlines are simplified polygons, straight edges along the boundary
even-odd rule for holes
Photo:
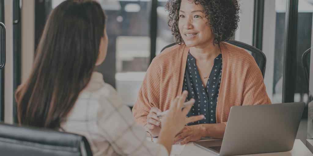
[[[147,115],[147,124],[145,129],[152,137],[159,136],[161,131],[161,120],[156,116],[156,113],[161,112],[160,109],[152,107],[149,114]]]

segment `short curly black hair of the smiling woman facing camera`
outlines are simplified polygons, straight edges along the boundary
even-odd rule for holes
[[[219,45],[222,41],[231,39],[238,28],[239,3],[238,0],[188,0],[203,7],[208,25],[214,34],[213,44]],[[182,44],[182,36],[178,28],[181,0],[169,0],[166,10],[169,12],[168,25],[172,27],[177,44]]]

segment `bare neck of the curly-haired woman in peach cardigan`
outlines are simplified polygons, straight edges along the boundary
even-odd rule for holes
[[[197,61],[208,61],[217,57],[221,53],[221,49],[219,45],[211,43],[205,46],[191,47],[189,52]]]

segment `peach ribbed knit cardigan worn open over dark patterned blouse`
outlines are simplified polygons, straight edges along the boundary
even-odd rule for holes
[[[182,93],[189,48],[175,45],[156,56],[149,66],[133,107],[136,121],[144,126],[151,107],[164,111]],[[271,104],[262,73],[254,58],[244,49],[221,43],[223,71],[216,122],[228,120],[230,108],[238,105]]]

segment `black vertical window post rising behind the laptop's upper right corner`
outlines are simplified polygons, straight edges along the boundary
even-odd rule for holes
[[[294,102],[297,51],[298,0],[288,0],[285,16],[285,55],[282,102]]]

